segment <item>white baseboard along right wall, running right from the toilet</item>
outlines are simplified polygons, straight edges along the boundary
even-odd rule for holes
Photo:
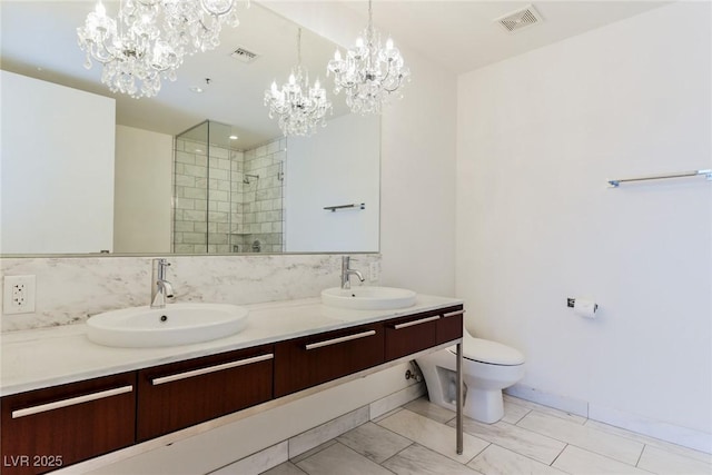
[[[576,414],[649,437],[678,444],[695,451],[712,453],[712,434],[688,427],[678,426],[650,417],[625,413],[619,409],[591,404],[585,400],[574,399],[557,394],[544,393],[533,387],[514,385],[504,390],[511,396],[531,400],[555,409]]]

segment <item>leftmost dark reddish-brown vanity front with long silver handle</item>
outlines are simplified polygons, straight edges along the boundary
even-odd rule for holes
[[[2,473],[40,474],[134,443],[136,373],[2,398]]]

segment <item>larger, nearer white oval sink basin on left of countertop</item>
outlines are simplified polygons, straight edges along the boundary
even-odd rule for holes
[[[90,317],[87,336],[100,345],[126,348],[188,345],[240,331],[247,314],[247,308],[222,304],[123,308]]]

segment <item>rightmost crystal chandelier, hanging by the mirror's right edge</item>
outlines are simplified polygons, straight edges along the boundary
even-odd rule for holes
[[[374,29],[372,0],[368,0],[368,26],[356,39],[356,46],[346,58],[336,50],[327,66],[327,76],[334,73],[334,93],[346,92],[346,103],[353,112],[380,113],[390,97],[402,98],[400,86],[411,80],[400,52],[388,38],[385,48],[380,34]],[[365,38],[365,39],[364,39]]]

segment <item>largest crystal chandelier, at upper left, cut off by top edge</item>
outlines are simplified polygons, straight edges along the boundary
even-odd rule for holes
[[[222,24],[236,26],[235,0],[121,0],[116,20],[98,1],[77,28],[85,67],[103,65],[101,82],[135,98],[158,93],[176,80],[186,55],[219,43]]]

